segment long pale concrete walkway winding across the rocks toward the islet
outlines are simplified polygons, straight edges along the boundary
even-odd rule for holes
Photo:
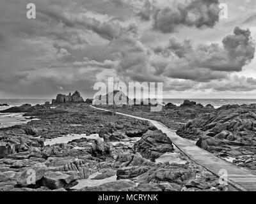
[[[92,106],[92,108],[96,107]],[[109,111],[102,108],[96,109]],[[141,117],[127,115],[124,113],[116,112],[116,114],[152,122],[157,129],[161,129],[163,133],[166,133],[166,135],[172,140],[173,144],[180,149],[180,151],[184,152],[184,154],[186,154],[186,156],[188,156],[191,160],[195,161],[195,163],[200,164],[200,166],[203,166],[205,169],[211,171],[217,176],[219,176],[221,172],[227,171],[228,183],[231,186],[236,187],[236,189],[239,191],[256,191],[256,175],[253,175],[253,173],[249,170],[239,168],[238,166],[230,164],[227,161],[214,156],[210,152],[197,147],[195,142],[181,138],[180,136],[176,135],[175,131],[164,126],[164,124],[161,122],[143,119]]]

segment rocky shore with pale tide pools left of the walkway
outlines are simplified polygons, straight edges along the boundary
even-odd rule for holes
[[[128,108],[141,114],[136,110],[147,107]],[[0,191],[235,191],[220,185],[215,175],[184,156],[145,120],[95,110],[86,103],[24,105],[3,112],[26,112],[26,117],[40,120],[0,129]],[[173,121],[183,115],[177,123],[169,122],[170,127],[199,114],[174,112]],[[65,140],[69,137],[74,139]],[[54,143],[56,139],[62,142]],[[49,141],[53,143],[47,145]]]

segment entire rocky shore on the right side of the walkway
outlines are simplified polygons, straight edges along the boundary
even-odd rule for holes
[[[190,103],[189,103],[190,102]],[[212,154],[251,171],[256,170],[255,130],[256,105],[224,105],[213,108],[184,101],[172,103],[161,112],[150,112],[150,106],[108,106],[109,110],[158,120],[175,129],[182,138],[196,141],[196,145]]]

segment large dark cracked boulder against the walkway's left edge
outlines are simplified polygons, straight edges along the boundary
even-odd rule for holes
[[[151,161],[155,161],[165,152],[173,152],[172,141],[160,130],[145,133],[141,140],[132,147],[133,152],[140,152],[141,155]]]

